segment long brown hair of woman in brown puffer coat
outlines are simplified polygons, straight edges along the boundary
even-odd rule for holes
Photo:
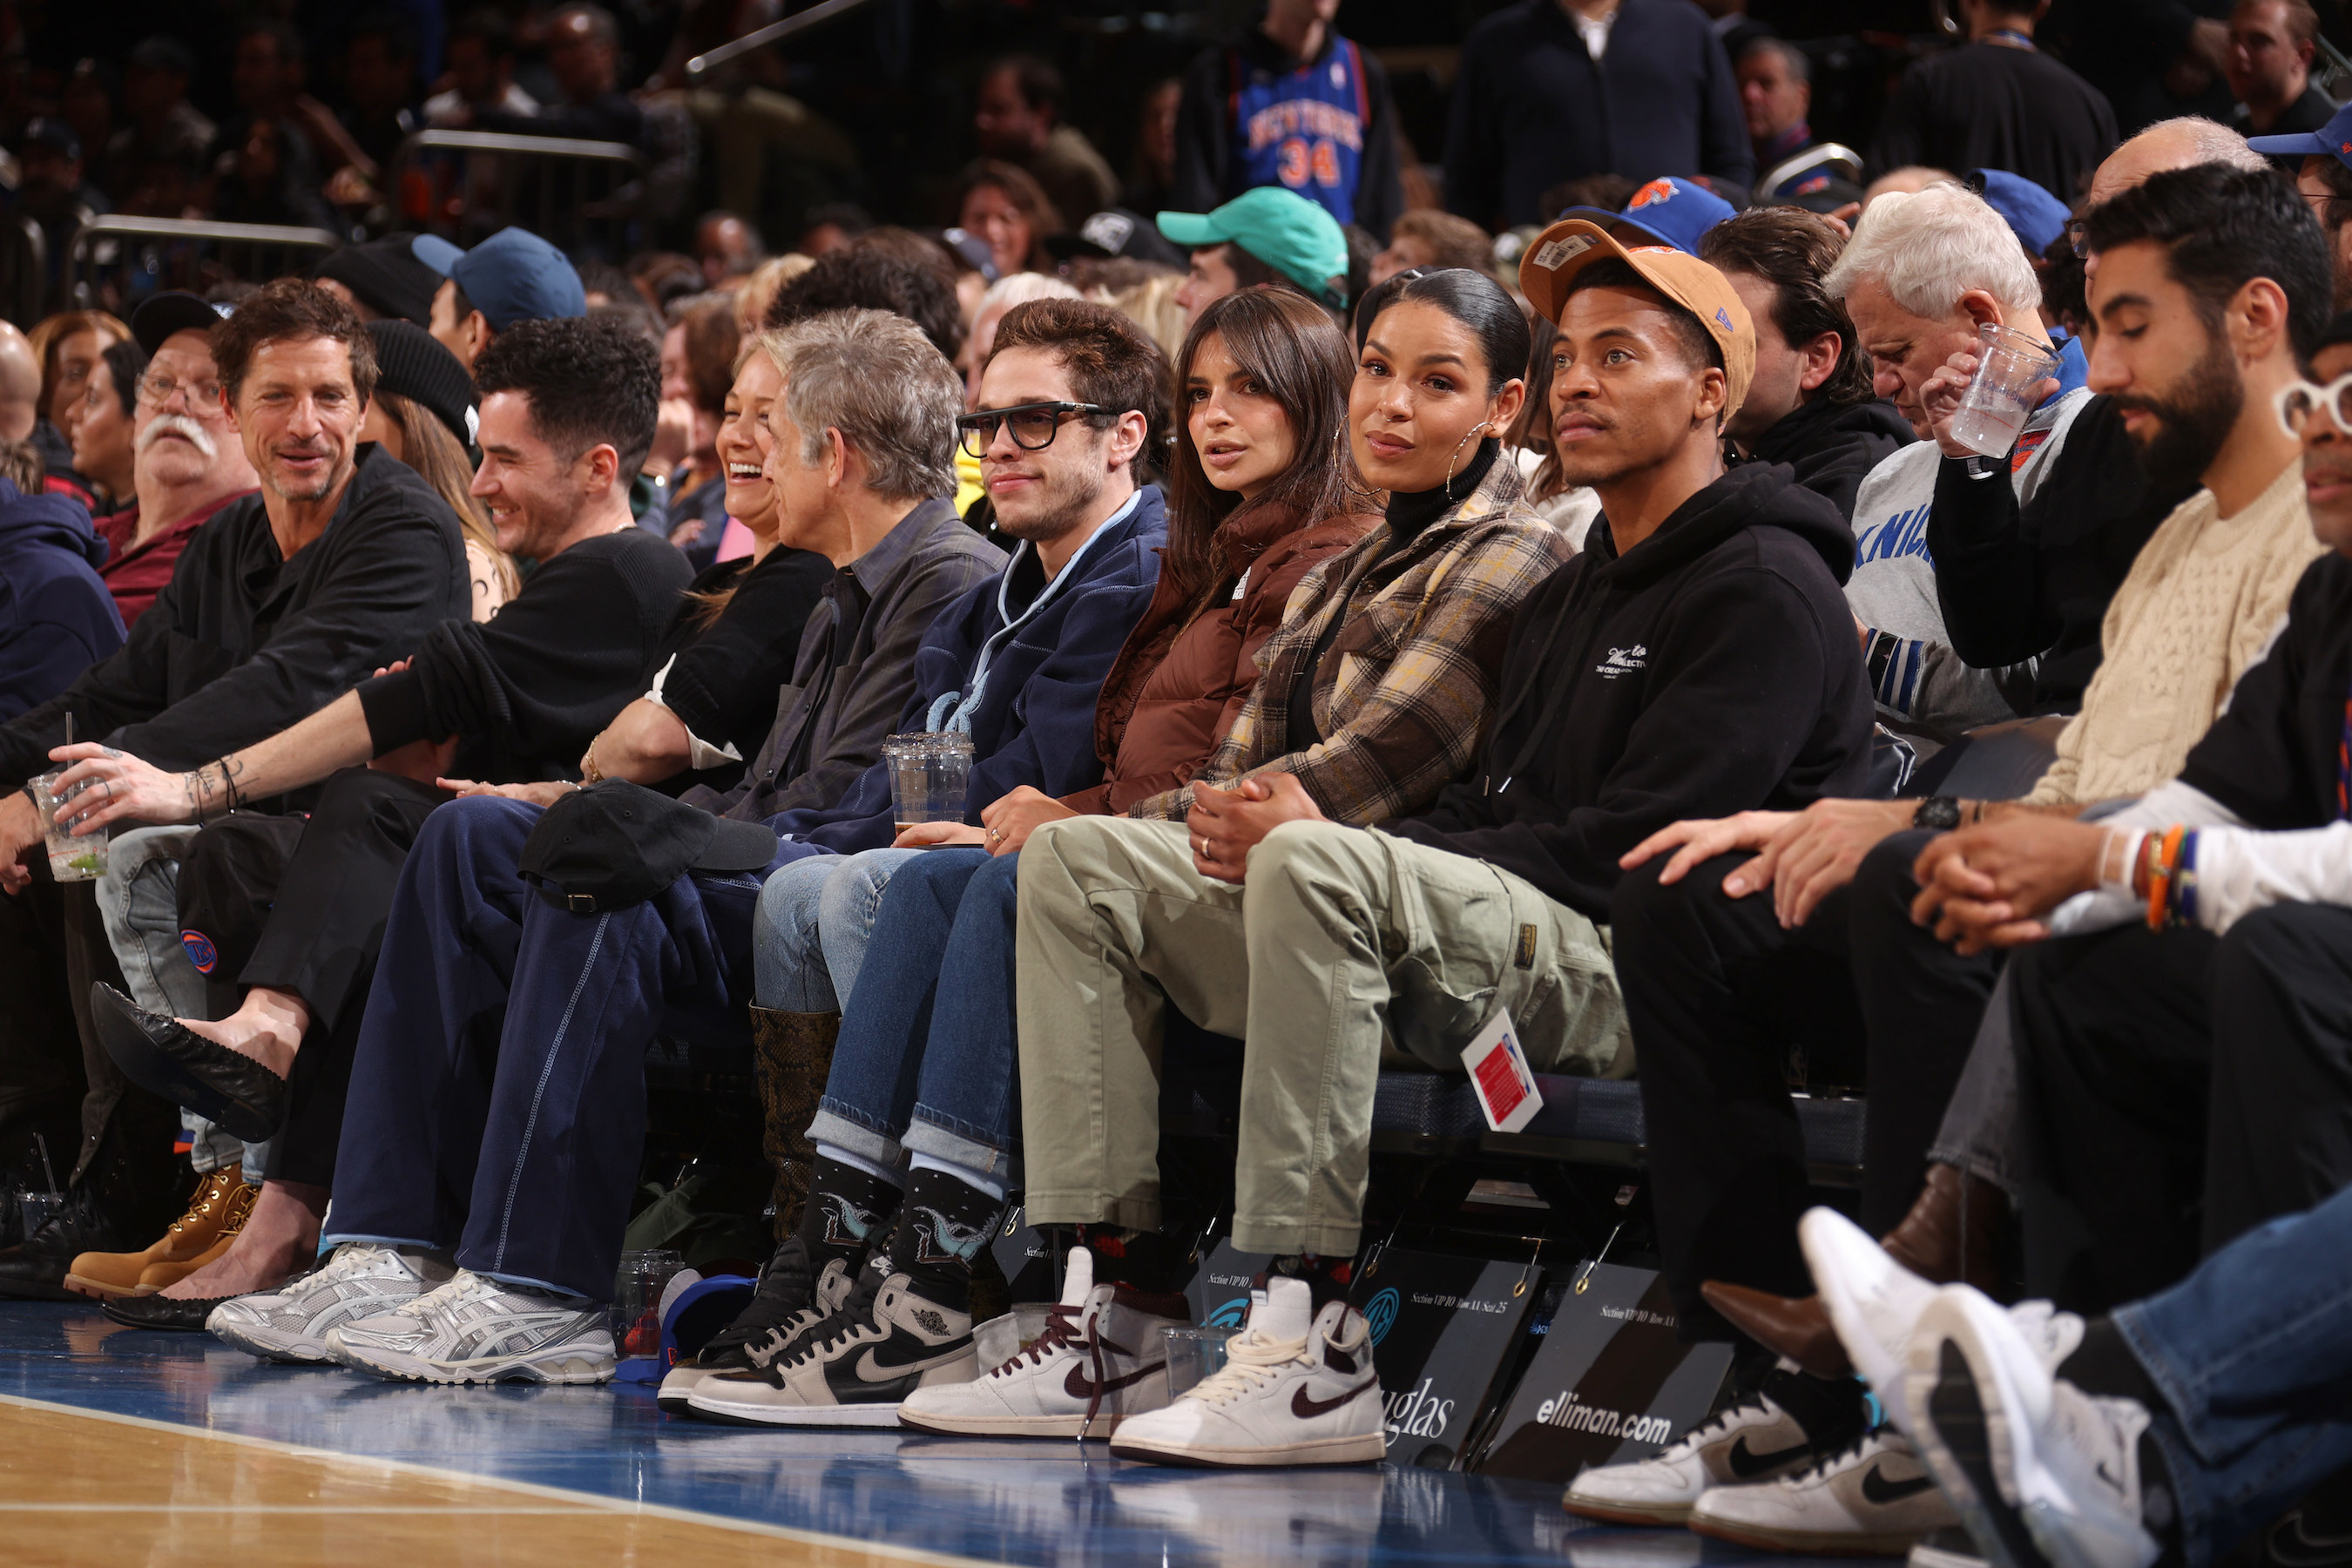
[[[1242,498],[1209,484],[1192,444],[1185,386],[1202,343],[1223,339],[1225,353],[1265,395],[1282,404],[1291,421],[1296,456],[1258,505],[1289,510],[1298,527],[1374,512],[1371,491],[1355,473],[1348,449],[1348,388],[1355,381],[1355,355],[1331,313],[1294,289],[1242,289],[1214,301],[1185,334],[1176,360],[1176,461],[1169,473],[1169,545],[1160,567],[1185,592],[1200,599],[1223,576],[1247,562],[1218,562],[1211,550],[1218,524]]]

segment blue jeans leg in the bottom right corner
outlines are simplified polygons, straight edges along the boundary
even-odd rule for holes
[[[2190,1568],[2352,1465],[2352,1187],[2241,1234],[2114,1326],[2171,1401],[2152,1432]]]

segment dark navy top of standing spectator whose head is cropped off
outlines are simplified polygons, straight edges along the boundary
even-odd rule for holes
[[[1446,129],[1446,207],[1482,228],[1550,223],[1564,179],[1715,174],[1755,183],[1731,61],[1686,0],[1625,0],[1595,61],[1557,0],[1470,28]]]

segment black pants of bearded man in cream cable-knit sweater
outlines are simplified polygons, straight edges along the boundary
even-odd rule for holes
[[[1926,832],[1872,849],[1853,882],[1783,931],[1771,891],[1724,898],[1750,856],[1717,856],[1672,886],[1663,860],[1628,872],[1611,943],[1632,1018],[1651,1197],[1684,1338],[1729,1338],[1708,1279],[1809,1295],[1797,1218],[1804,1140],[1788,1098],[1792,1046],[1809,1077],[1860,1056],[1870,1086],[1863,1225],[1884,1234],[1926,1175],[1926,1150],[1969,1060],[1994,961],[1964,959],[1910,919]],[[1823,1072],[1830,1065],[1832,1072]],[[1851,1081],[1851,1077],[1846,1081]]]

